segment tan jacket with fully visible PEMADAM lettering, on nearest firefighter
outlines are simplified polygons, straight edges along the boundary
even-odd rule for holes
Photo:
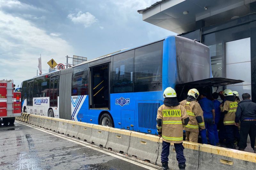
[[[162,127],[157,127],[162,131],[163,141],[180,144],[183,141],[184,119],[188,117],[183,106],[168,107],[162,105],[157,110],[157,119],[162,119]]]

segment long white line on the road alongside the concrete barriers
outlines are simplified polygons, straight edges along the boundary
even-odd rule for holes
[[[147,168],[147,169],[151,169],[151,170],[157,170],[156,168],[153,168],[153,167],[150,167],[150,166],[141,164],[141,163],[136,162],[136,161],[133,161],[133,160],[131,160],[131,159],[127,159],[127,158],[124,158],[124,157],[122,157],[122,156],[118,156],[118,155],[115,155],[115,154],[113,154],[113,153],[109,153],[109,152],[103,151],[103,150],[101,150],[101,149],[99,149],[99,148],[95,148],[95,147],[93,147],[93,146],[90,146],[89,144],[84,144],[84,143],[81,143],[81,142],[78,142],[78,141],[75,141],[75,140],[72,140],[72,139],[68,139],[67,137],[62,137],[62,136],[60,136],[59,134],[55,134],[55,133],[53,133],[53,132],[49,132],[49,131],[46,131],[46,130],[44,130],[44,129],[39,129],[39,128],[37,128],[37,127],[33,127],[33,126],[28,125],[28,124],[23,123],[23,122],[18,122],[18,121],[15,121],[15,122],[16,122],[16,123],[19,123],[19,124],[26,125],[26,126],[28,126],[28,127],[30,127],[30,128],[34,128],[34,129],[43,131],[43,132],[48,133],[48,134],[53,135],[53,136],[60,137],[60,138],[62,138],[62,139],[68,140],[68,141],[70,141],[70,142],[73,142],[73,143],[76,143],[76,144],[80,144],[80,145],[85,146],[85,147],[87,147],[87,148],[91,148],[91,149],[93,149],[93,150],[95,150],[95,151],[99,151],[99,152],[105,153],[105,154],[107,154],[107,155],[113,156],[113,157],[115,157],[115,158],[122,159],[122,160],[124,160],[124,161],[126,161],[126,162],[129,162],[129,163],[132,163],[132,164],[134,164],[134,165],[138,165],[138,166],[141,166],[141,167],[143,167],[143,168]]]

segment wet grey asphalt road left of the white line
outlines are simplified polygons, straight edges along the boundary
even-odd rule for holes
[[[0,126],[0,169],[145,169],[15,122]]]

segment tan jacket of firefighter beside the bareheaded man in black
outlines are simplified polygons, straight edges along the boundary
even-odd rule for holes
[[[236,101],[228,101],[226,100],[222,107],[222,112],[225,110],[228,111],[227,114],[224,115],[224,125],[234,125],[235,118],[236,118],[236,109],[237,109],[237,102]]]

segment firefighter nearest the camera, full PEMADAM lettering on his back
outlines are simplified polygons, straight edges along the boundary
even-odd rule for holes
[[[164,104],[157,110],[156,128],[159,137],[163,137],[161,162],[163,169],[169,169],[168,156],[170,143],[174,143],[176,159],[180,169],[185,169],[186,159],[183,154],[183,126],[189,122],[186,109],[178,102],[176,92],[171,87],[164,90]]]

